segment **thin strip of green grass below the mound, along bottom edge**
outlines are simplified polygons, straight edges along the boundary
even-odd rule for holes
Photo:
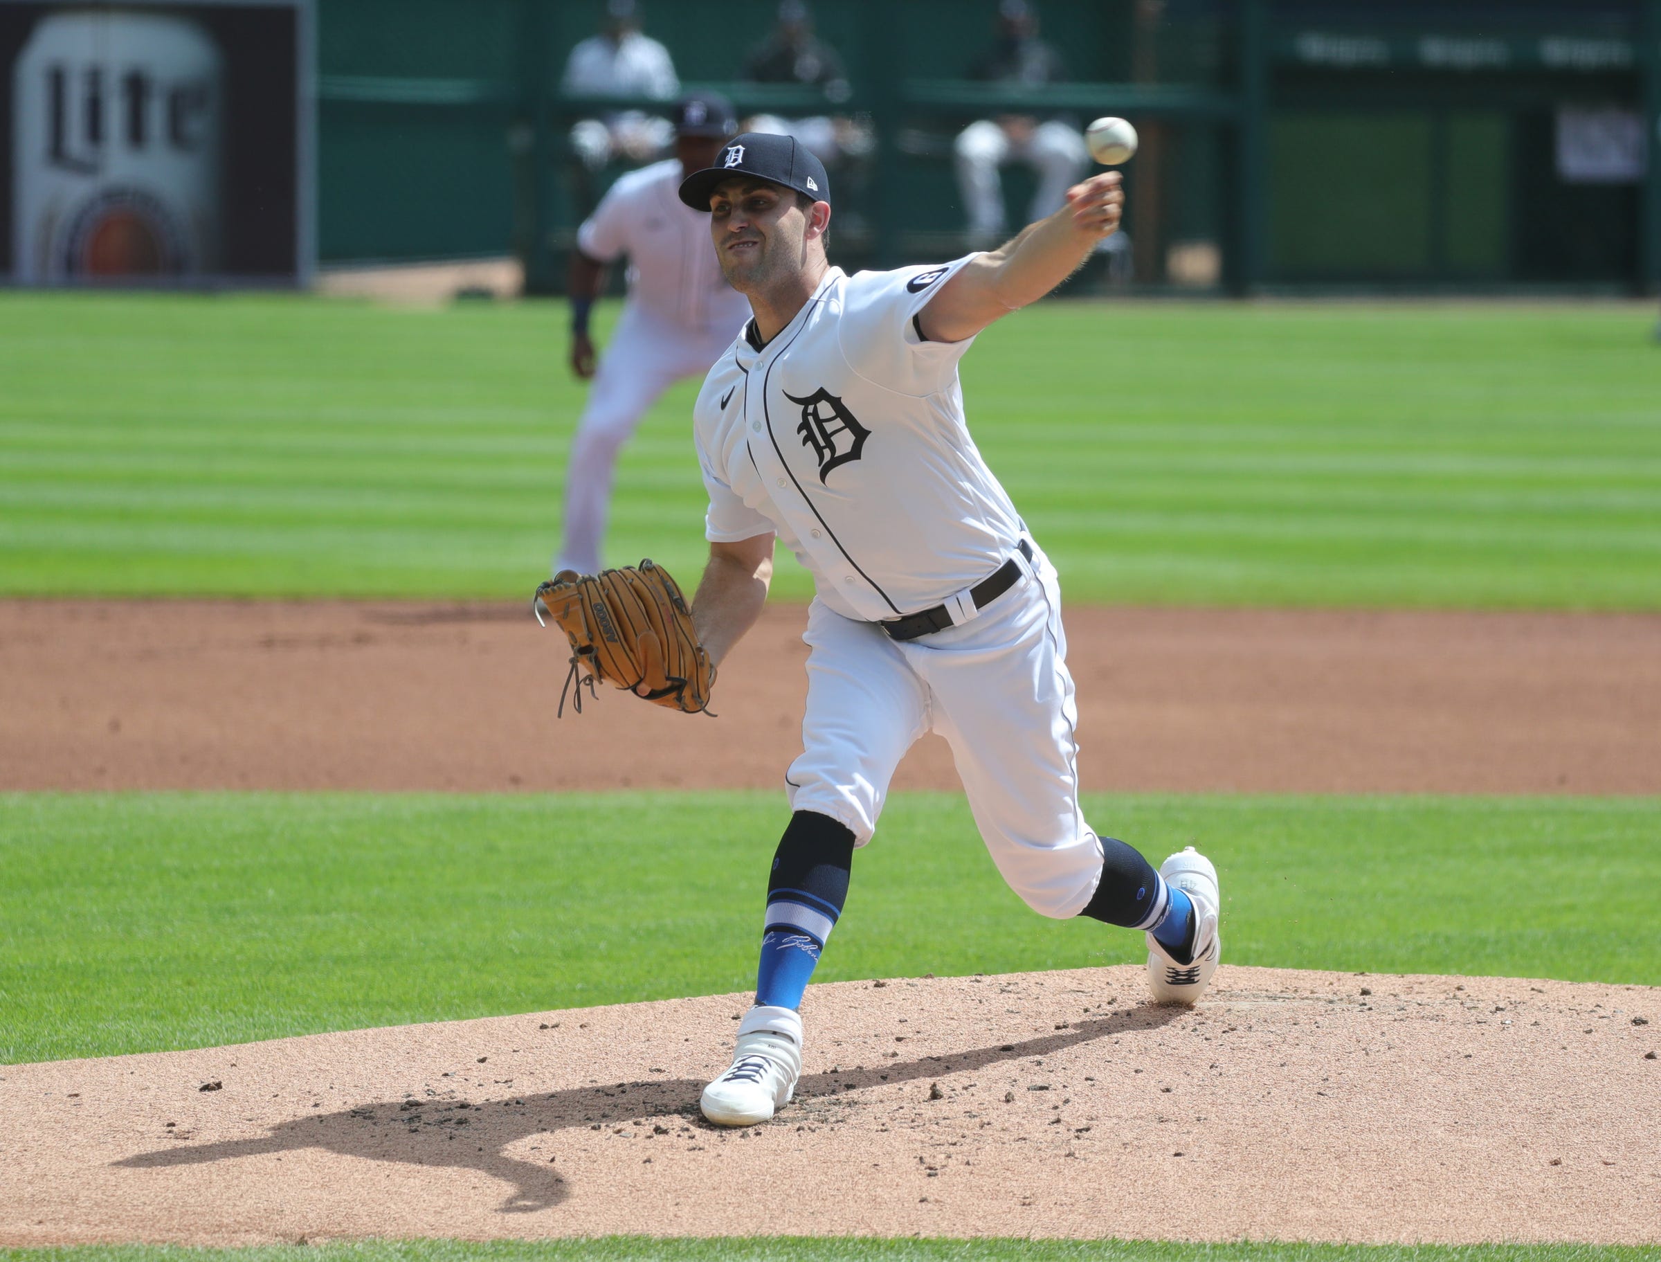
[[[375,1240],[183,1249],[0,1249],[0,1262],[1649,1262],[1654,1249],[1596,1245],[1169,1244],[1163,1240],[646,1239]]]

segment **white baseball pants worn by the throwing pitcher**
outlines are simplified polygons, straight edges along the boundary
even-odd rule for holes
[[[1035,912],[1066,918],[1096,890],[1101,842],[1078,807],[1056,573],[1036,548],[1031,563],[1015,560],[1022,578],[977,618],[912,641],[816,599],[804,751],[786,780],[792,810],[829,815],[865,845],[900,757],[940,732],[1003,880]]]

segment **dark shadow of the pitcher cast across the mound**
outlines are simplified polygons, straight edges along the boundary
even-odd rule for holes
[[[943,1073],[982,1069],[998,1061],[1017,1061],[1026,1056],[1048,1056],[1110,1035],[1153,1030],[1188,1011],[1188,1008],[1131,1008],[1111,1016],[1078,1021],[1068,1030],[1022,1043],[968,1048],[874,1068],[860,1066],[809,1074],[797,1084],[796,1099],[844,1098],[865,1088],[895,1086],[938,1078]],[[659,1078],[570,1088],[541,1096],[510,1096],[480,1104],[455,1098],[375,1101],[342,1113],[279,1123],[259,1139],[140,1152],[113,1164],[126,1169],[163,1169],[319,1147],[372,1161],[478,1171],[513,1187],[513,1194],[502,1202],[500,1212],[532,1214],[565,1201],[570,1196],[570,1184],[565,1174],[507,1156],[508,1147],[538,1134],[578,1127],[598,1131],[608,1124],[668,1116],[679,1116],[686,1126],[713,1131],[718,1127],[709,1126],[698,1111],[698,1098],[703,1089],[704,1084],[691,1078]],[[781,1124],[787,1123],[789,1114]]]

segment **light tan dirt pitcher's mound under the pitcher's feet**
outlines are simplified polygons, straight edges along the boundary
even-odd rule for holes
[[[771,1124],[696,1109],[747,996],[0,1069],[0,1244],[1055,1235],[1661,1244],[1661,990],[1138,968],[809,990]]]

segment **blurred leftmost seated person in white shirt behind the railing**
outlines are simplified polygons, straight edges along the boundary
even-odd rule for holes
[[[681,90],[681,81],[669,50],[641,33],[635,0],[606,0],[600,35],[571,50],[560,88],[568,96],[654,96],[668,101]],[[585,118],[571,128],[571,149],[588,173],[613,158],[649,161],[666,153],[673,141],[669,120],[643,110]]]

